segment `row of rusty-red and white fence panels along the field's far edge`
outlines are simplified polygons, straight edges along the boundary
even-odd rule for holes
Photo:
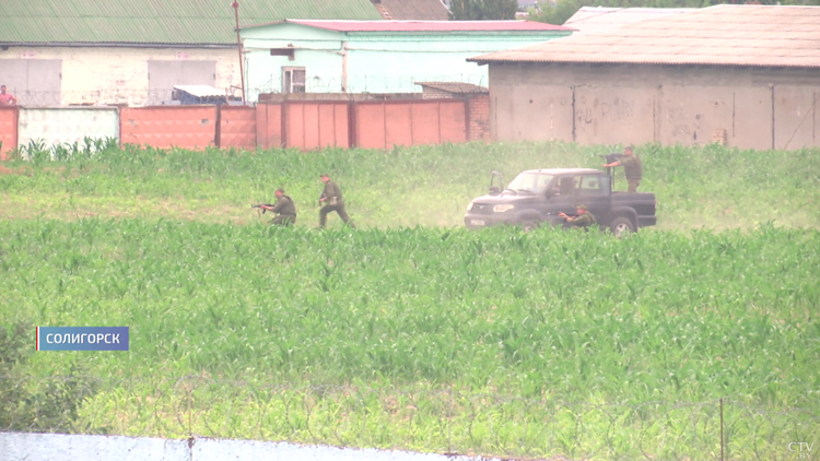
[[[487,133],[470,132],[471,114],[466,99],[285,101],[256,107],[12,107],[0,110],[0,152],[31,142],[54,146],[87,138],[161,149],[303,151],[485,139]]]

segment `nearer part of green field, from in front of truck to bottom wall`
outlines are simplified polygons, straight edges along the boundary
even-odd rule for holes
[[[128,354],[33,357],[102,381],[81,432],[706,459],[725,398],[733,457],[777,459],[820,414],[816,229],[91,217],[0,243],[3,319],[131,328]]]

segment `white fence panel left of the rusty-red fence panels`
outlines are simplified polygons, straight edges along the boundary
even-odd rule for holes
[[[119,114],[116,107],[20,108],[19,143],[44,142],[46,147],[57,144],[83,144],[92,140],[119,138]]]

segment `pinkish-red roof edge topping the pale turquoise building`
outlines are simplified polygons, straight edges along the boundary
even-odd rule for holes
[[[277,24],[301,24],[336,32],[571,32],[572,28],[535,21],[321,21],[285,20],[257,24],[265,27]]]

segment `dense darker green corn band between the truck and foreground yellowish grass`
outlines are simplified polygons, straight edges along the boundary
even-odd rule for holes
[[[0,235],[3,318],[132,327],[132,354],[84,358],[101,374],[776,404],[811,401],[820,383],[816,230],[613,240],[91,218]]]

